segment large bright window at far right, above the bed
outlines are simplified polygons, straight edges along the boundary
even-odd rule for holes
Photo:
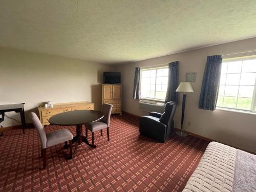
[[[217,106],[255,112],[256,58],[224,60]]]

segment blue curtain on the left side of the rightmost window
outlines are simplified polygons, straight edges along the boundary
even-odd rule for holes
[[[221,55],[207,57],[201,87],[199,109],[211,111],[216,109],[221,77],[221,63]]]

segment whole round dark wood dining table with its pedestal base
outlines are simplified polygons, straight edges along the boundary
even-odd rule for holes
[[[73,138],[72,144],[75,142],[77,142],[77,144],[84,142],[90,147],[95,148],[96,145],[89,143],[87,138],[82,135],[82,125],[97,121],[103,118],[103,116],[102,112],[93,110],[69,111],[52,116],[49,119],[49,123],[61,126],[76,126],[76,136]]]

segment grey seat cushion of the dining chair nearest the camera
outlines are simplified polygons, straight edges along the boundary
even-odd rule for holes
[[[46,134],[46,147],[50,147],[73,139],[73,135],[67,129],[62,129]]]

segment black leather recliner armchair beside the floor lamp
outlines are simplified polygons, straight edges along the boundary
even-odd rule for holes
[[[163,114],[151,112],[149,116],[140,117],[140,134],[165,142],[173,133],[176,106],[175,101],[170,101],[165,104]]]

